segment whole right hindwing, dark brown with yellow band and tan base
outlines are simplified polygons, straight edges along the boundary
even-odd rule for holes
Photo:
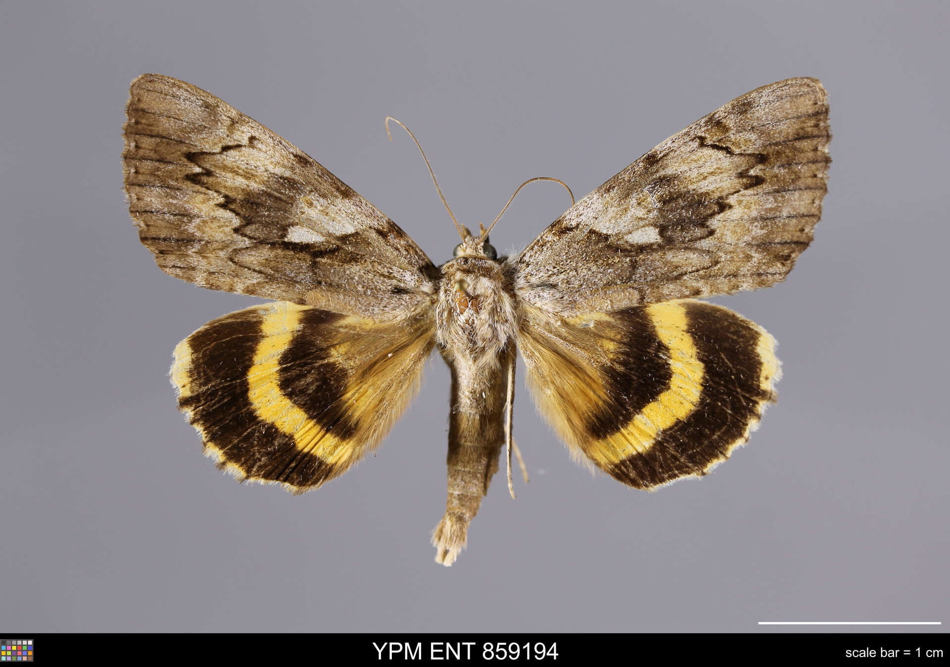
[[[775,399],[774,339],[683,299],[571,319],[526,312],[519,345],[542,412],[575,453],[654,488],[729,458]]]

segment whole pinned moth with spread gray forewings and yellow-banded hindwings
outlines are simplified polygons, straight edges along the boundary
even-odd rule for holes
[[[466,545],[503,448],[516,351],[571,454],[625,485],[706,475],[775,400],[764,329],[702,300],[769,287],[813,238],[826,92],[752,90],[603,183],[517,256],[487,232],[436,266],[303,151],[195,86],[131,86],[123,173],[165,273],[273,302],[175,348],[178,403],[241,480],[300,493],[379,445],[433,349],[451,370],[448,498],[432,543]],[[428,163],[428,161],[427,161]],[[434,177],[433,177],[434,179]],[[505,413],[505,410],[507,412]]]

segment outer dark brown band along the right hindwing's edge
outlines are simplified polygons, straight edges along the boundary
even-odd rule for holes
[[[650,448],[604,467],[620,482],[637,488],[705,475],[748,440],[763,404],[774,400],[773,375],[763,381],[764,364],[777,368],[770,344],[760,344],[768,334],[725,308],[701,301],[684,302],[684,307],[704,367],[702,391],[695,409],[661,431]],[[769,359],[763,359],[765,351]]]

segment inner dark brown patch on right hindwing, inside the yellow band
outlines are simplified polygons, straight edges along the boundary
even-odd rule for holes
[[[645,308],[630,308],[614,314],[622,339],[610,363],[604,367],[603,401],[586,424],[596,440],[606,438],[627,424],[666,391],[673,372],[669,354],[656,335],[656,327]]]

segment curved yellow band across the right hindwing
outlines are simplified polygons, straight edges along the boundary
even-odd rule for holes
[[[686,309],[676,302],[647,307],[656,336],[669,351],[670,385],[624,428],[603,440],[587,454],[601,466],[617,464],[631,454],[644,452],[664,429],[688,417],[699,403],[705,369],[688,330]]]

